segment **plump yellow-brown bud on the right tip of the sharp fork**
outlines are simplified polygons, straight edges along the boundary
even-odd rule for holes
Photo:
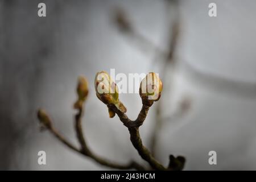
[[[148,73],[145,78],[141,81],[139,87],[139,95],[142,98],[142,103],[147,106],[151,106],[154,101],[158,101],[161,97],[163,90],[162,80],[156,73]]]

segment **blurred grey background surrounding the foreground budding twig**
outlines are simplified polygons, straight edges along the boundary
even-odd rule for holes
[[[208,15],[211,2],[217,17]],[[162,97],[141,127],[159,162],[167,165],[174,154],[185,156],[185,170],[255,170],[255,7],[254,0],[0,0],[0,169],[111,169],[39,131],[36,110],[43,107],[78,146],[72,105],[79,75],[90,84],[83,120],[89,147],[115,162],[146,165],[94,92],[96,72],[114,68],[163,78]],[[139,94],[119,97],[135,119]],[[46,165],[38,164],[40,150]],[[208,163],[212,150],[217,165]]]

